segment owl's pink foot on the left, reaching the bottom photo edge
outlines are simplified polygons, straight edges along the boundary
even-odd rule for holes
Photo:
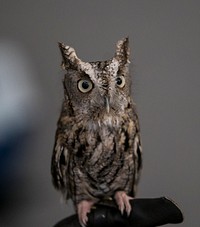
[[[78,219],[81,226],[86,226],[88,217],[87,214],[90,213],[92,206],[94,205],[93,201],[83,200],[77,205]]]

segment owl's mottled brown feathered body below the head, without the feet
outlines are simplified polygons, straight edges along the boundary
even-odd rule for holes
[[[112,196],[116,190],[135,194],[142,161],[135,113],[76,124],[61,117],[59,122],[52,158],[57,188],[76,203]]]

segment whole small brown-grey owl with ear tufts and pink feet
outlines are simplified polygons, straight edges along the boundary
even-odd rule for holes
[[[85,226],[92,206],[113,200],[131,212],[142,167],[140,127],[131,98],[129,40],[117,42],[113,58],[84,62],[59,43],[64,100],[57,123],[51,173],[65,199],[72,199]]]

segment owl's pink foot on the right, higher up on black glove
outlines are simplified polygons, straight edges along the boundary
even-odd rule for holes
[[[125,210],[127,215],[129,216],[131,213],[131,204],[130,204],[129,200],[132,200],[133,198],[128,196],[126,194],[126,192],[124,192],[124,191],[117,191],[115,193],[114,198],[119,207],[121,214],[123,215],[124,210]]]

